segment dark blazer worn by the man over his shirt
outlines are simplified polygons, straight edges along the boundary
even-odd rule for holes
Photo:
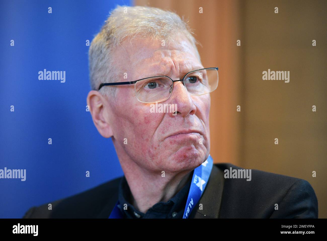
[[[224,178],[230,163],[214,164],[189,218],[318,218],[318,200],[310,183],[299,178],[251,170],[246,178]],[[23,218],[108,218],[118,200],[121,177],[76,195],[30,208]],[[275,210],[278,204],[278,210]],[[186,205],[186,204],[185,204]]]

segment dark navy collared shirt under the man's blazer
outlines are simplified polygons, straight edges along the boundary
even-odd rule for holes
[[[191,180],[174,197],[168,200],[168,202],[158,202],[146,213],[143,213],[129,203],[132,194],[124,175],[119,185],[118,208],[124,213],[125,218],[182,218],[190,186]],[[127,204],[127,210],[124,210],[124,204]]]

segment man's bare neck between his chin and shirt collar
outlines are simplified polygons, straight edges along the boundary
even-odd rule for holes
[[[163,177],[160,171],[149,172],[131,160],[126,161],[120,163],[132,193],[129,201],[144,213],[158,202],[167,202],[192,179],[192,170],[165,172]]]

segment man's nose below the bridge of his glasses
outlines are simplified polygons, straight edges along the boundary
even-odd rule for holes
[[[169,116],[176,117],[177,115],[181,115],[182,117],[186,117],[188,114],[195,114],[197,108],[182,81],[174,82],[171,91],[172,93],[168,102],[174,104],[177,110],[175,113],[169,113]]]

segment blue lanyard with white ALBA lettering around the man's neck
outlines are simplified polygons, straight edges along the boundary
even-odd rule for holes
[[[214,161],[212,157],[209,155],[207,160],[205,160],[200,166],[194,169],[192,183],[191,183],[190,191],[188,193],[183,218],[189,217],[189,214],[192,212],[193,208],[200,200],[203,191],[208,183],[213,163]],[[117,201],[115,207],[110,213],[109,218],[124,218],[120,209],[117,207],[118,205],[119,205],[119,201]]]

